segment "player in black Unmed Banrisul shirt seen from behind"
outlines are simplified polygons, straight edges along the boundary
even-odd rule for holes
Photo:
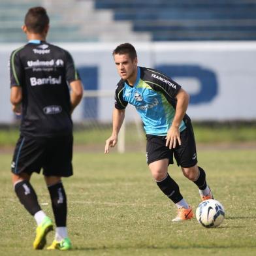
[[[12,184],[37,221],[33,248],[42,249],[53,223],[40,208],[29,182],[31,174],[42,168],[57,226],[48,249],[71,249],[61,177],[72,175],[71,113],[82,99],[82,83],[69,52],[46,42],[49,18],[44,8],[30,8],[22,29],[28,43],[10,56],[10,101],[12,110],[22,115],[12,159]]]

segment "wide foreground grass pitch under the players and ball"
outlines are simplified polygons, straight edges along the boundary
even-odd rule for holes
[[[144,153],[74,153],[74,176],[63,180],[68,195],[69,236],[74,250],[33,251],[33,217],[10,184],[10,154],[0,155],[1,255],[256,255],[256,150],[199,151],[214,196],[226,218],[205,229],[194,218],[172,223],[176,208],[152,181]],[[170,174],[194,210],[197,187],[180,168]],[[43,210],[52,217],[41,175],[32,178]],[[48,205],[45,205],[47,203]],[[48,235],[52,242],[54,232]]]

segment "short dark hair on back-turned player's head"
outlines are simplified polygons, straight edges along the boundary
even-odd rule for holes
[[[40,34],[49,24],[49,21],[44,7],[33,7],[27,11],[24,23],[29,32]]]

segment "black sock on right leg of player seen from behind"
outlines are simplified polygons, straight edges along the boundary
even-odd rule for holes
[[[52,200],[52,210],[57,227],[66,227],[67,197],[61,182],[48,187]]]

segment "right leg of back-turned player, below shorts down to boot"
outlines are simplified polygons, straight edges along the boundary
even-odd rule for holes
[[[67,234],[67,197],[59,176],[44,176],[56,222],[54,242],[47,249],[71,249],[71,241]]]

